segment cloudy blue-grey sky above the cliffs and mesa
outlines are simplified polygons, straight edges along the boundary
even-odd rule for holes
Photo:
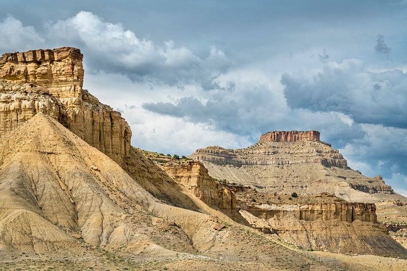
[[[407,196],[407,1],[0,0],[0,54],[77,47],[132,145],[189,155],[319,130]]]

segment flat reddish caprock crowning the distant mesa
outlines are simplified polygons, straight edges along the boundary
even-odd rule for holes
[[[263,143],[298,141],[319,141],[319,131],[272,131],[262,134],[258,142]]]

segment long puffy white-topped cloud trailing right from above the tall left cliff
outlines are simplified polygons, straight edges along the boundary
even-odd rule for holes
[[[105,22],[91,12],[47,25],[48,39],[74,43],[85,52],[85,63],[94,72],[123,74],[133,81],[183,87],[198,84],[205,90],[219,88],[216,79],[230,65],[224,52],[211,47],[206,58],[173,41],[156,45],[138,38],[120,23]]]

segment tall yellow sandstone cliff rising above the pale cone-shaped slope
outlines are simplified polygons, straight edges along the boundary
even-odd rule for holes
[[[0,135],[42,112],[123,164],[130,150],[130,127],[119,112],[82,89],[82,58],[72,47],[3,54]]]

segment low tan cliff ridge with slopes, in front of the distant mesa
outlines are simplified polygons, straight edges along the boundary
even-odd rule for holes
[[[326,193],[317,197],[316,201],[321,202],[309,203],[307,197],[300,197],[299,202],[276,204],[270,202],[272,196],[210,177],[198,161],[167,162],[163,168],[209,206],[242,224],[277,234],[297,247],[344,254],[407,256],[407,251],[390,238],[387,228],[377,222],[374,204],[346,202]],[[264,202],[266,198],[268,203]]]

